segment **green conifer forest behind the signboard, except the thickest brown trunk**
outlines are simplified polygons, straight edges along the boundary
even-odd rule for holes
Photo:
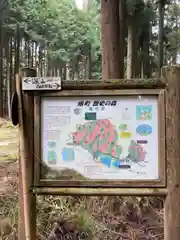
[[[162,1],[162,0],[161,0]],[[126,0],[120,6],[120,77],[154,77],[159,67],[179,58],[179,1]],[[0,21],[0,116],[10,115],[14,75],[20,67],[63,80],[100,79],[100,1],[9,0]],[[164,19],[160,42],[159,11]],[[121,14],[122,15],[122,14]],[[112,36],[113,39],[114,36]],[[161,64],[162,65],[162,64]],[[106,66],[103,66],[105,69]],[[9,110],[8,110],[9,108]]]

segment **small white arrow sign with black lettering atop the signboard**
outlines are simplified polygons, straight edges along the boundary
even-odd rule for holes
[[[61,90],[60,77],[24,77],[22,90]]]

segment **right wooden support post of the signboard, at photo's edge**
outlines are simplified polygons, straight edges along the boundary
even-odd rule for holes
[[[164,205],[164,239],[180,239],[180,66],[162,69],[166,96],[167,197]]]

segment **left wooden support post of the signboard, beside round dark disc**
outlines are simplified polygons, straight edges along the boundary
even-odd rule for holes
[[[36,197],[31,191],[33,184],[33,93],[21,90],[21,77],[35,77],[36,70],[20,69],[16,77],[19,104],[20,161],[19,161],[19,240],[36,239]]]

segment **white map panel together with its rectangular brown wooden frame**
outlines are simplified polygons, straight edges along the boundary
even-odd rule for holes
[[[36,186],[165,186],[162,90],[82,93],[36,97]]]

